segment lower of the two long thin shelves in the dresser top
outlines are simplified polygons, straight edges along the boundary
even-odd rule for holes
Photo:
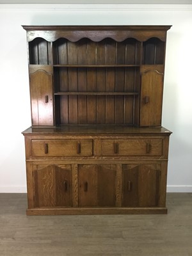
[[[56,92],[54,95],[139,95],[138,92]]]

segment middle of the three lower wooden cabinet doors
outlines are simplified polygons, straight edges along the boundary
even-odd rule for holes
[[[79,206],[115,206],[115,164],[79,164]]]

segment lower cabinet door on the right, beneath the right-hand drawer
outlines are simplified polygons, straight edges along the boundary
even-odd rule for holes
[[[159,164],[123,164],[124,207],[155,207],[159,204]]]

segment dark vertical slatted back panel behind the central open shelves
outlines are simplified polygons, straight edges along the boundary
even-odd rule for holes
[[[54,43],[54,63],[60,65],[134,65],[141,44],[134,39],[93,42],[83,38]],[[55,92],[134,92],[139,68],[56,67]],[[134,122],[132,95],[62,95],[61,124],[130,124]]]

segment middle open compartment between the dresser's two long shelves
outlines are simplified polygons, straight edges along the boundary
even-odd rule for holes
[[[136,95],[140,67],[54,67],[54,92],[82,95]]]

